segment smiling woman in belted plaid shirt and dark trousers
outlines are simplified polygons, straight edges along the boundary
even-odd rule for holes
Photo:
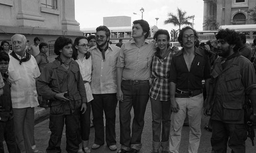
[[[154,39],[158,47],[151,65],[152,80],[150,85],[150,100],[153,118],[152,152],[157,153],[159,148],[162,147],[162,153],[167,153],[169,150],[171,114],[168,79],[173,50],[169,47],[170,36],[167,30],[158,30],[154,35]],[[160,138],[162,139],[160,140]]]

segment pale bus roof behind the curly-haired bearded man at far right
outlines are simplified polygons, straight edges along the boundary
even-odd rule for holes
[[[246,41],[249,41],[250,44],[253,43],[253,39],[256,38],[256,24],[251,25],[223,25],[219,28],[221,29],[233,29],[240,33],[244,33],[246,36]]]

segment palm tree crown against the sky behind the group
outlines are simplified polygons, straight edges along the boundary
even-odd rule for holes
[[[186,16],[186,11],[182,12],[181,9],[177,9],[177,15],[173,13],[168,13],[169,18],[164,21],[164,24],[173,24],[174,26],[179,26],[179,29],[182,25],[193,26],[193,23],[190,23],[188,20],[193,19],[195,15]]]

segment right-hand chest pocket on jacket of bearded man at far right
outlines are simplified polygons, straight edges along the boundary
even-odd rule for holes
[[[225,76],[227,91],[232,92],[241,88],[241,74],[239,71],[234,71]]]

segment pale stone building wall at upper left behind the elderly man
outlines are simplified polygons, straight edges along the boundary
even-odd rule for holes
[[[75,20],[74,0],[57,0],[57,9],[42,7],[40,0],[0,0],[0,20],[0,41],[16,33],[24,34],[29,45],[34,37],[53,43],[61,35],[72,40],[83,35]]]

